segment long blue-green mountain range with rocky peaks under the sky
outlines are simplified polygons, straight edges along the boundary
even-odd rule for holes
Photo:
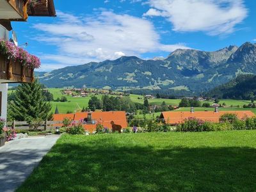
[[[256,44],[246,42],[240,47],[230,45],[212,52],[177,49],[167,58],[152,60],[122,56],[113,61],[38,72],[36,76],[48,87],[173,91],[196,95],[227,83],[239,74],[256,74]]]

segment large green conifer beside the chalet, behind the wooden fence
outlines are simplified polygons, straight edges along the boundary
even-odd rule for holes
[[[18,86],[15,100],[10,102],[10,115],[18,121],[46,120],[51,116],[51,103],[46,102],[42,87],[36,79],[33,83]]]

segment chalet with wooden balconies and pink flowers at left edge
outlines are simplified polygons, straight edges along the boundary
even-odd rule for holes
[[[26,21],[29,16],[56,16],[53,0],[41,0],[31,4],[28,0],[0,1],[0,41],[1,46],[9,47],[12,52],[0,52],[0,116],[6,120],[8,83],[31,83],[34,81],[34,69],[40,67],[40,60],[21,47],[12,31],[12,21]],[[12,42],[9,41],[12,31]],[[4,47],[2,47],[4,48]],[[9,50],[10,50],[9,49]],[[15,58],[22,52],[26,54],[25,63]]]

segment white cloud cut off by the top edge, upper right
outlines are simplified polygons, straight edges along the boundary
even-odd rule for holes
[[[247,16],[243,0],[148,0],[145,16],[166,17],[173,31],[204,31],[209,35],[232,33]]]

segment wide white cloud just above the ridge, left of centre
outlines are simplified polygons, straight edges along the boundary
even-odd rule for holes
[[[58,12],[53,24],[38,23],[35,40],[55,45],[56,54],[42,55],[44,63],[78,65],[89,61],[114,60],[120,56],[140,56],[145,52],[187,49],[186,45],[164,45],[151,22],[131,15],[102,11],[99,15],[80,18]],[[74,20],[74,22],[72,22]]]

